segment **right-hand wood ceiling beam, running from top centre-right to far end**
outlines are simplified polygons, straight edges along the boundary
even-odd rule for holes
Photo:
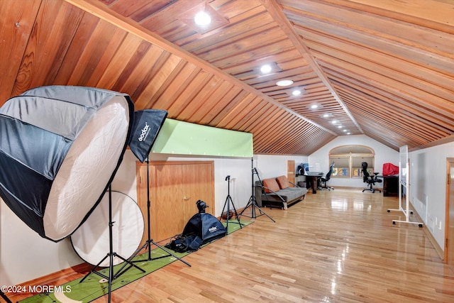
[[[348,110],[347,106],[345,106],[341,98],[338,96],[336,90],[331,85],[331,82],[329,82],[328,77],[326,77],[323,70],[321,70],[321,67],[317,64],[316,60],[311,55],[309,48],[302,42],[301,38],[299,38],[299,35],[294,31],[292,24],[290,24],[288,19],[284,16],[284,12],[282,11],[281,6],[279,6],[279,4],[277,4],[275,0],[260,0],[260,1],[262,2],[263,6],[265,6],[268,13],[270,13],[272,18],[274,18],[275,21],[279,24],[279,26],[281,26],[282,31],[284,31],[289,40],[292,41],[292,43],[294,44],[295,48],[297,48],[301,56],[304,57],[304,59],[312,67],[316,75],[319,76],[321,82],[325,84],[329,92],[331,92],[336,101],[338,101],[339,105],[345,111],[345,114],[347,114],[347,116],[355,124],[358,130],[361,133],[364,133],[358,122],[355,120],[353,115]]]

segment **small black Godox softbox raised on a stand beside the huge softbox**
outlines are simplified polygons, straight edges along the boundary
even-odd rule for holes
[[[148,158],[148,154],[150,154],[150,150],[166,117],[167,111],[162,109],[135,111],[129,148],[131,148],[131,151],[140,162]]]

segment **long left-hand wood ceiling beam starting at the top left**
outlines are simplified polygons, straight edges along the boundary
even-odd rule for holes
[[[217,67],[214,67],[213,65],[210,65],[206,61],[201,60],[199,57],[196,57],[195,55],[192,55],[186,50],[179,48],[177,45],[170,43],[169,41],[165,40],[159,35],[156,35],[155,33],[148,31],[147,29],[140,26],[138,23],[135,23],[134,21],[131,21],[130,19],[121,16],[115,11],[112,11],[111,9],[109,9],[109,7],[107,7],[104,4],[101,4],[101,2],[97,0],[64,0],[64,1],[79,9],[82,9],[83,11],[87,11],[87,13],[90,13],[98,18],[101,18],[101,20],[109,22],[118,28],[121,28],[123,31],[131,33],[137,36],[138,38],[141,38],[145,41],[148,41],[149,43],[152,43],[153,45],[162,48],[163,50],[166,50],[174,55],[177,55],[181,57],[183,60],[187,60],[187,62],[192,63],[198,67],[201,67],[207,72],[211,72],[216,77],[234,83],[236,86],[241,87],[246,92],[249,92],[250,94],[255,94],[255,96],[258,96],[261,99],[269,102],[270,104],[277,106],[279,109],[283,109],[284,111],[287,111],[289,114],[297,116],[299,119],[311,123],[312,125],[321,128],[323,131],[326,131],[327,133],[337,136],[336,133],[329,130],[328,128],[325,128],[315,123],[314,121],[311,121],[306,117],[297,114],[296,112],[292,111],[286,106],[280,104],[278,101],[275,101],[274,99],[268,97],[266,94],[263,94],[262,92],[259,92],[258,90],[254,89],[253,87],[250,87],[248,84],[245,84],[240,80],[236,79],[235,77],[226,74],[225,72],[219,70]]]

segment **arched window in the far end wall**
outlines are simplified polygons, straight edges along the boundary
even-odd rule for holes
[[[361,177],[361,163],[367,162],[367,171],[374,172],[375,152],[364,145],[342,145],[329,152],[329,162],[334,161],[331,177]]]

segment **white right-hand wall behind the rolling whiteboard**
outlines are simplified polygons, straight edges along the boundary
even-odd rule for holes
[[[409,200],[438,245],[444,249],[446,158],[454,157],[454,142],[409,153]]]

